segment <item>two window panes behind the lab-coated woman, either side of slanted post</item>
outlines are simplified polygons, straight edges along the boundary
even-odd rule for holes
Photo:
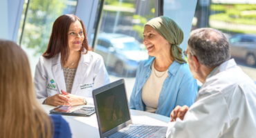
[[[77,0],[25,1],[17,42],[27,52],[33,73],[39,57],[48,46],[53,22],[57,17],[62,14],[80,14],[80,18],[85,19],[85,25],[91,23],[90,19],[81,16],[93,16],[93,14],[75,13],[81,11],[81,9],[77,10],[79,3],[81,1]],[[93,32],[89,31],[87,36],[90,46],[93,45],[92,40],[98,23],[96,20],[101,12],[100,3],[98,1],[96,16],[92,17],[95,19],[93,19],[94,25],[87,28],[87,30],[93,28]],[[111,81],[125,78],[128,95],[134,86],[138,64],[148,58],[147,50],[143,45],[143,29],[145,23],[154,17],[155,3],[156,0],[104,1],[98,38],[92,47],[104,58]]]

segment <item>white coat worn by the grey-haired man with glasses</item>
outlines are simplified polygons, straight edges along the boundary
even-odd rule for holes
[[[256,86],[230,59],[214,68],[183,121],[168,124],[166,137],[256,137]]]

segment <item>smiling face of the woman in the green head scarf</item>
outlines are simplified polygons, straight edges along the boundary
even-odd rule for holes
[[[151,26],[145,26],[143,37],[143,43],[150,56],[157,57],[161,52],[170,52],[170,43]]]

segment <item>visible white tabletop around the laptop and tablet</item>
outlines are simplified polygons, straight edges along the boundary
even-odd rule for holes
[[[49,110],[54,106],[42,105],[44,110],[49,113]],[[98,130],[98,122],[95,114],[89,117],[76,117],[62,115],[68,122],[73,138],[97,138],[100,137]],[[144,112],[140,110],[131,110],[131,119],[134,124],[147,124],[155,126],[167,126],[170,117],[154,114],[151,112]]]

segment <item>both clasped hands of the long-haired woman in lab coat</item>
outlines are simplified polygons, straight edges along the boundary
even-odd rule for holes
[[[47,97],[45,103],[51,106],[78,106],[84,103],[83,98],[71,95],[68,92],[64,92],[62,94],[56,94],[51,97]]]

